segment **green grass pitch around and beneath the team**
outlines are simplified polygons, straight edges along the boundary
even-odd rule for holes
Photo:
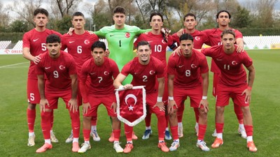
[[[85,154],[71,152],[71,144],[64,141],[68,137],[71,125],[69,113],[64,103],[59,101],[59,108],[55,110],[54,131],[59,143],[53,144],[53,148],[43,154],[36,154],[38,147],[43,145],[41,133],[41,117],[37,107],[36,115],[36,145],[27,147],[27,70],[29,63],[21,55],[0,55],[0,154],[1,156],[279,156],[278,144],[280,141],[279,124],[279,93],[280,89],[280,52],[279,50],[248,50],[253,58],[255,66],[255,83],[253,84],[253,98],[251,112],[253,114],[254,142],[258,152],[251,153],[246,149],[246,140],[237,134],[237,118],[233,112],[232,102],[225,108],[224,144],[221,148],[202,152],[195,147],[195,116],[186,101],[186,110],[183,117],[184,137],[180,139],[181,147],[177,151],[163,153],[157,148],[158,131],[156,129],[156,117],[153,115],[153,135],[148,140],[141,140],[145,125],[142,121],[134,127],[139,140],[134,141],[134,149],[130,154],[116,154],[113,144],[108,142],[111,133],[110,121],[105,107],[100,106],[98,111],[97,129],[100,142],[90,141],[92,149]],[[26,63],[25,63],[26,62]],[[10,64],[21,63],[15,66]],[[3,67],[6,66],[6,67]],[[210,79],[212,73],[210,73]],[[210,80],[210,82],[212,82]],[[209,87],[209,120],[205,142],[210,147],[214,142],[211,134],[214,130],[215,103],[211,96],[211,84]],[[80,132],[80,144],[83,142],[83,133]],[[120,137],[121,145],[125,146],[125,134]],[[172,141],[167,141],[168,146]]]

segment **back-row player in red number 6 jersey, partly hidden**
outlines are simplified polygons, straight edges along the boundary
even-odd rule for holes
[[[91,55],[91,46],[92,44],[99,40],[98,36],[94,33],[91,34],[88,31],[85,31],[85,16],[83,13],[76,12],[72,15],[71,20],[74,30],[73,34],[69,35],[68,33],[65,33],[62,36],[62,50],[65,50],[67,48],[67,51],[69,54],[73,56],[73,59],[76,62],[77,66],[77,74],[78,74],[78,81],[80,80],[80,70],[83,66],[83,63],[87,61],[88,59],[92,58]],[[87,81],[87,88],[89,89],[89,83],[90,81]],[[80,88],[78,84],[78,105],[82,105],[82,96],[80,94]],[[92,118],[92,129],[91,129],[90,135],[92,135],[92,138],[94,141],[99,141],[100,137],[97,133],[97,118]],[[73,133],[67,138],[66,143],[73,141]]]

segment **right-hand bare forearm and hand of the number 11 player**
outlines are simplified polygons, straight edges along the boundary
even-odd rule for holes
[[[251,66],[246,67],[246,68],[248,70],[248,87],[247,87],[247,89],[245,89],[242,92],[242,95],[246,94],[245,95],[245,102],[250,103],[250,101],[251,101],[251,91],[252,91],[252,87],[253,87],[253,82],[255,80],[255,68],[254,68],[253,64]]]

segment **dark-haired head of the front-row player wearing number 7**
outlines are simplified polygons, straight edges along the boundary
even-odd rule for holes
[[[97,40],[92,44],[91,50],[92,50],[92,57],[94,59],[94,63],[97,65],[101,65],[102,63],[104,63],[105,50],[106,50],[105,43]]]

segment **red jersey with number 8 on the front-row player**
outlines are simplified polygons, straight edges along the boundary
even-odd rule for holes
[[[200,74],[209,70],[204,54],[193,49],[190,58],[171,55],[168,60],[168,74],[174,75],[174,87],[180,89],[193,89],[201,86]]]

